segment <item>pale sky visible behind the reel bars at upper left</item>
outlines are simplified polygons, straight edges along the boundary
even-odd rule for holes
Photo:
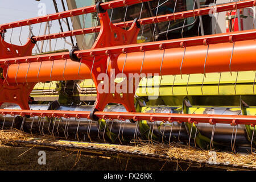
[[[56,2],[57,2],[59,11],[63,11],[61,1],[56,0]],[[40,3],[43,3],[43,4],[40,4]],[[44,11],[43,11],[44,7],[46,7],[45,8],[46,14],[56,13],[52,0],[41,0],[41,1],[0,0],[0,24],[15,22],[17,20],[34,18],[36,16],[42,15],[42,13],[44,13]],[[66,5],[66,9],[67,9],[67,5]],[[46,24],[42,23],[41,29],[40,29],[40,23],[34,24],[32,26],[33,34],[37,36],[39,34],[39,30],[40,30],[40,35],[43,35],[45,26],[46,26]],[[20,33],[20,30],[21,30],[21,33]],[[57,21],[52,22],[50,31],[51,31],[51,33],[57,33],[60,31],[60,26]],[[67,30],[65,30],[65,27],[64,27],[64,31],[67,31]],[[24,27],[22,27],[22,29],[20,27],[14,28],[12,35],[11,35],[11,32],[12,32],[12,29],[7,30],[6,38],[5,38],[6,42],[17,44],[19,46],[20,46],[20,42],[21,42],[21,44],[25,44],[27,42],[27,38],[28,38],[28,34],[29,34],[28,26],[24,26]],[[47,34],[48,34],[48,31],[47,31]],[[60,42],[60,39],[59,39],[59,40],[57,40],[57,43],[56,43],[56,40],[52,40],[51,44],[52,44],[52,50],[64,48],[64,40],[61,40],[61,42]],[[56,44],[56,47],[55,47],[55,44]],[[40,49],[40,46],[41,46],[40,43],[38,43],[38,46]],[[68,44],[65,44],[65,48],[69,49],[70,47],[71,46],[69,46]],[[43,51],[47,51],[48,49],[49,49],[49,43],[45,42]],[[35,52],[35,51],[36,51],[36,48],[33,50],[33,52]]]

